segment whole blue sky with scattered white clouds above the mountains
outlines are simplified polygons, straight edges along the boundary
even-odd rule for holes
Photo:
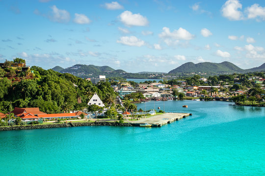
[[[265,63],[265,0],[0,0],[0,62],[168,72]]]

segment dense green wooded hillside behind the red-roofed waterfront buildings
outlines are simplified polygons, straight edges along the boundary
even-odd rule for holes
[[[108,82],[93,85],[69,73],[37,66],[32,66],[31,70],[34,71],[32,79],[0,78],[0,112],[7,113],[14,107],[39,107],[46,113],[69,112],[85,108],[94,92],[105,105],[112,103],[116,96]]]

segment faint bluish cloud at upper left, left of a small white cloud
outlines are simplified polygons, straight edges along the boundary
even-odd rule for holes
[[[49,16],[49,19],[53,22],[69,22],[70,21],[70,13],[66,10],[58,9],[55,5],[51,7],[52,15]]]

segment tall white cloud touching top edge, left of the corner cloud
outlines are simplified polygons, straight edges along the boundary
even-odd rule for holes
[[[238,0],[227,0],[221,8],[223,17],[229,20],[242,20],[243,14],[238,9],[242,9],[242,4]]]

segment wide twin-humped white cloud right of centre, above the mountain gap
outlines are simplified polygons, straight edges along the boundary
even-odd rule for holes
[[[178,30],[170,32],[168,27],[163,27],[163,32],[159,34],[160,38],[163,39],[174,39],[174,40],[191,40],[194,35],[190,34],[186,29],[180,27]]]

